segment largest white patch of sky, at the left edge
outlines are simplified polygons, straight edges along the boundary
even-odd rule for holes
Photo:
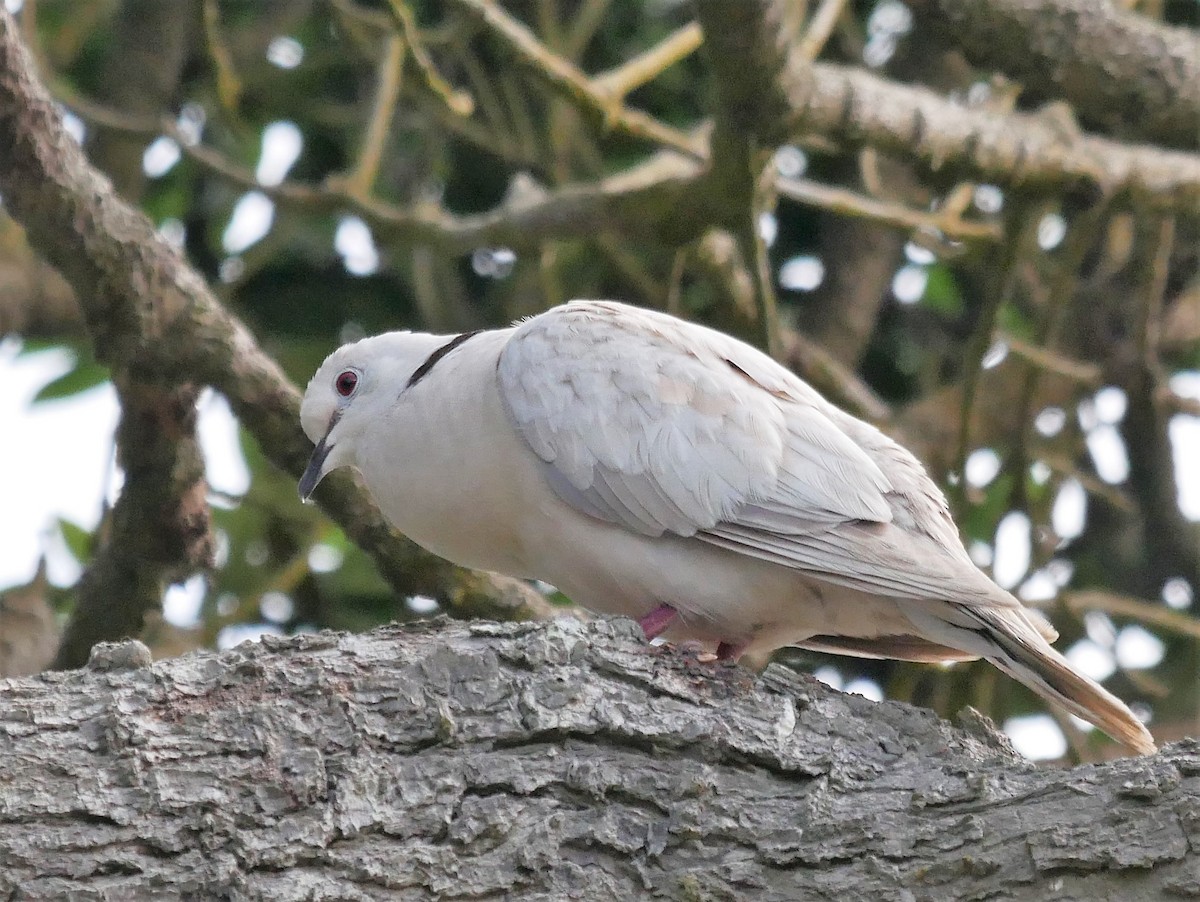
[[[56,519],[65,517],[95,529],[102,507],[104,476],[113,465],[118,404],[104,384],[60,401],[30,405],[34,395],[72,367],[64,350],[18,357],[19,342],[0,341],[0,588],[29,582],[37,560],[50,552],[50,577],[59,584],[77,567],[61,542],[46,548]]]

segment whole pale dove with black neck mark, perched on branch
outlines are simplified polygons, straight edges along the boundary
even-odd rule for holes
[[[384,516],[464,567],[536,578],[719,659],[784,645],[985,659],[1141,752],[1142,723],[967,555],[907,450],[721,332],[614,301],[511,327],[388,332],[301,405],[308,499],[359,471]]]

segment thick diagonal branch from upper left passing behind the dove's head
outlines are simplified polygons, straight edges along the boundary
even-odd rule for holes
[[[2,11],[0,191],[31,242],[74,287],[100,359],[114,369],[136,361],[143,380],[212,385],[268,459],[296,476],[304,471],[311,447],[295,386],[145,216],[88,164]],[[493,593],[487,577],[404,540],[349,477],[335,474],[317,499],[401,595],[433,595],[451,608],[511,595],[511,587]],[[532,589],[528,595],[530,606],[541,603]]]

